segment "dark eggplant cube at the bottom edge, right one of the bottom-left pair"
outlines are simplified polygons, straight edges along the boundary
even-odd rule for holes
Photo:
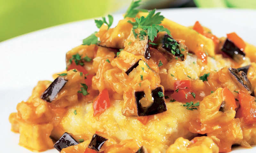
[[[100,151],[101,146],[107,141],[108,139],[103,138],[100,135],[94,134],[92,136],[92,140],[88,145],[88,148],[94,149],[96,151]]]

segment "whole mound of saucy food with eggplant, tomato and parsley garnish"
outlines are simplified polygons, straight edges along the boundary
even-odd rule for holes
[[[66,54],[9,120],[21,146],[61,153],[218,153],[256,144],[256,47],[132,2]],[[54,144],[55,143],[55,144]],[[57,152],[56,150],[56,152]]]

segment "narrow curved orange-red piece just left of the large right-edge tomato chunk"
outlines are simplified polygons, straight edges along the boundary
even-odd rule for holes
[[[236,108],[236,101],[234,98],[234,95],[232,94],[231,91],[228,90],[228,88],[223,88],[222,92],[222,100],[226,102],[226,107],[225,109],[228,110],[235,110]]]

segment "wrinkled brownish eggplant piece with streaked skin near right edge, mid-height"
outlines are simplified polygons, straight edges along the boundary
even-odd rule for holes
[[[248,80],[246,74],[244,73],[244,71],[240,71],[238,72],[237,69],[234,68],[228,68],[231,77],[236,80],[238,82],[238,84],[240,84],[240,87],[244,88],[247,91],[251,91],[252,93],[252,84],[251,82]]]

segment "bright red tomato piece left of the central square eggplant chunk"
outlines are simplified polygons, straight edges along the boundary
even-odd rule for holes
[[[108,90],[106,88],[100,92],[98,97],[92,103],[92,106],[94,111],[93,116],[98,113],[103,113],[110,106]]]

